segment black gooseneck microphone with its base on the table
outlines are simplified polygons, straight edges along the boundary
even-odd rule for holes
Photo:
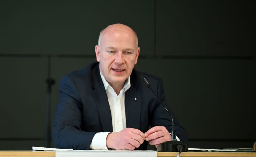
[[[158,99],[158,97],[156,96],[156,93],[151,89],[149,82],[146,80],[145,77],[143,77],[143,79],[146,82],[147,88],[149,88],[151,90],[151,92],[156,97],[157,101],[164,107],[164,104]],[[172,115],[170,114],[168,109],[166,107],[164,107],[164,109],[167,111],[167,113],[172,118]],[[181,153],[181,151],[187,152],[189,144],[185,143],[185,142],[177,141],[177,139],[176,139],[176,132],[175,132],[175,128],[174,128],[173,118],[172,118],[172,131],[171,132],[172,132],[172,140],[159,144],[157,146],[157,151],[159,151],[159,152],[180,152],[180,153]]]

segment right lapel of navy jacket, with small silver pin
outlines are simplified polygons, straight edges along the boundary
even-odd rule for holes
[[[131,87],[125,92],[125,116],[126,127],[140,129],[140,113],[141,113],[141,92],[136,91],[138,84],[137,78],[131,75]]]

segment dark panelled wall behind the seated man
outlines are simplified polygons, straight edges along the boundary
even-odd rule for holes
[[[0,150],[46,146],[46,79],[56,82],[52,123],[61,77],[96,61],[98,35],[114,23],[137,32],[135,68],[163,79],[190,147],[252,148],[254,21],[246,0],[1,0]]]

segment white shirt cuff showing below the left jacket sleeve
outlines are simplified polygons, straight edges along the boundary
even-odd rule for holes
[[[94,135],[90,149],[93,150],[108,150],[106,146],[106,139],[109,133],[112,132],[98,132]]]

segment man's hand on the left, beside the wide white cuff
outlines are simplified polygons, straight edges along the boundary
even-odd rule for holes
[[[120,132],[110,133],[106,139],[107,148],[117,150],[138,148],[145,140],[145,135],[138,129],[126,128]]]

